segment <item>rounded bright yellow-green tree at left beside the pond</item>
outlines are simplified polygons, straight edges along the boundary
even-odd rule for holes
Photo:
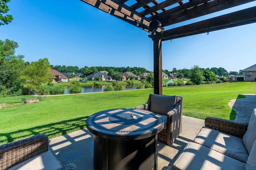
[[[51,82],[53,74],[49,71],[50,63],[48,59],[39,59],[24,68],[21,80],[28,90],[37,90],[42,83]]]

